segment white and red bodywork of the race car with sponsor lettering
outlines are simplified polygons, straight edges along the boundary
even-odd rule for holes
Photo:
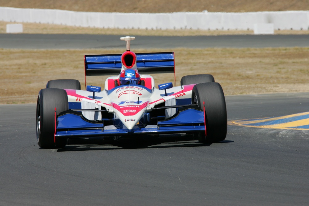
[[[127,51],[123,55],[135,55],[130,51],[130,40],[135,37],[121,37],[121,40],[126,41]],[[130,67],[121,61],[124,69],[138,69],[135,62]],[[105,90],[95,93],[85,90],[66,90],[69,102],[81,103],[82,109],[106,109],[109,113],[113,113],[115,119],[119,119],[128,129],[139,123],[145,112],[151,111],[156,105],[165,103],[165,106],[176,105],[176,99],[191,99],[193,85],[184,87],[177,86],[167,89],[167,95],[164,90],[159,90],[155,87],[155,81],[150,75],[140,75],[141,78],[151,79],[151,89],[140,85],[122,85],[115,89],[107,90],[109,79],[119,79],[118,76],[112,76],[105,81]],[[150,82],[149,82],[150,83]],[[150,85],[150,84],[148,84]],[[149,87],[149,86],[148,86]],[[109,93],[109,94],[108,94]],[[173,116],[176,113],[176,108],[168,108],[165,111],[166,118]],[[83,111],[83,116],[88,120],[102,121],[101,112]]]

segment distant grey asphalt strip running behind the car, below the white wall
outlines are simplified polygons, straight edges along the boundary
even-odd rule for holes
[[[125,35],[123,35],[125,36]],[[87,34],[0,34],[0,48],[124,48],[121,36]],[[309,35],[136,36],[131,48],[309,47]]]

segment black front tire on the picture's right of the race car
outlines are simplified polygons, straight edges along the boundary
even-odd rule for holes
[[[197,104],[204,111],[205,132],[198,134],[201,143],[213,143],[225,140],[227,132],[226,104],[222,87],[217,82],[194,85],[192,104]]]

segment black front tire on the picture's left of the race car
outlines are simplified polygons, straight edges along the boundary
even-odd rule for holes
[[[54,140],[56,115],[69,109],[68,95],[63,89],[42,89],[36,104],[36,140],[41,148],[63,148],[66,139]]]

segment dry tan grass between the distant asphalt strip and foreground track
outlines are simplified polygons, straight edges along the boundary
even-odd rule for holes
[[[135,50],[159,52],[164,50]],[[84,84],[83,55],[123,50],[0,49],[0,103],[35,103],[48,80],[72,78]],[[309,91],[309,48],[174,49],[176,85],[188,74],[213,74],[226,95]],[[156,85],[173,75],[154,75]],[[104,87],[105,77],[87,84]]]

